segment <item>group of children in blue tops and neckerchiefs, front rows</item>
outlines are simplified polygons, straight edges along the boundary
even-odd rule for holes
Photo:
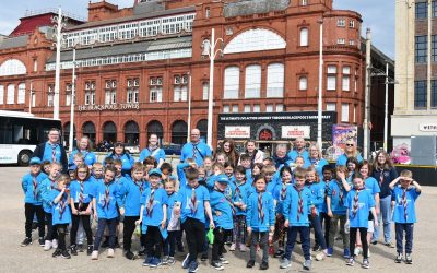
[[[52,257],[69,259],[83,250],[76,244],[82,225],[92,260],[98,259],[101,247],[107,247],[107,257],[113,258],[122,229],[125,257],[137,258],[132,251],[135,234],[141,246],[138,254],[145,254],[145,266],[174,264],[176,246],[184,251],[184,233],[188,254],[182,268],[188,272],[198,270],[199,256],[202,261],[208,260],[210,244],[210,264],[223,270],[228,263],[223,256],[226,242],[231,242],[231,251],[245,252],[250,248],[247,268],[255,266],[257,251],[262,249],[260,270],[269,269],[269,254],[281,259],[281,269],[291,268],[293,249],[298,242],[305,258],[303,268],[310,270],[310,228],[315,234],[312,251],[320,261],[333,256],[340,222],[346,264],[354,265],[356,256],[363,253],[362,266],[369,268],[368,233],[378,225],[379,186],[368,177],[368,163],[335,169],[326,165],[319,174],[312,166],[303,168],[302,157],[292,167],[284,165],[279,169],[271,158],[252,164],[250,156],[243,154],[239,162],[239,166],[233,166],[221,155],[215,161],[206,156],[203,165],[197,166],[196,161],[188,158],[177,166],[176,177],[170,164],[157,168],[156,161],[146,157],[143,163],[133,164],[129,175],[123,175],[119,159],[108,157],[103,164],[87,166],[76,153],[74,171],[67,176],[61,174],[60,164],[47,167],[34,157],[22,180],[26,217],[22,246],[32,244],[36,215],[38,242],[44,250],[54,248]],[[397,232],[395,262],[402,261],[405,233],[405,262],[412,263],[414,202],[421,187],[411,171],[403,170],[390,188]]]

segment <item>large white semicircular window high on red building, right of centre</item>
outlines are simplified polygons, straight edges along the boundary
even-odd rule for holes
[[[285,46],[285,40],[276,33],[269,29],[255,28],[233,38],[225,47],[224,54],[282,49]]]

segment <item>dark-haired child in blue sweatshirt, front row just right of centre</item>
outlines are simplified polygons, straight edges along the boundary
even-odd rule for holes
[[[274,232],[274,201],[270,192],[265,192],[265,178],[260,175],[255,180],[256,191],[247,200],[246,223],[247,233],[251,234],[250,260],[246,268],[253,268],[257,245],[262,247],[260,270],[269,269],[269,240]]]

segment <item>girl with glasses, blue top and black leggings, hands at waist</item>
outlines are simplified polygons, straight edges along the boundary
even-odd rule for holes
[[[93,194],[95,185],[88,181],[90,168],[86,164],[81,164],[75,169],[75,178],[70,185],[71,190],[71,214],[72,226],[70,232],[70,252],[78,254],[75,239],[78,235],[79,223],[82,221],[83,229],[87,239],[87,254],[93,252],[93,232],[91,230],[90,215],[93,209]]]

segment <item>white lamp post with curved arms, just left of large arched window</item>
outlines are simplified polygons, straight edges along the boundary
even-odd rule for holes
[[[223,43],[222,38],[217,38],[215,40],[215,29],[211,29],[211,41],[205,39],[203,40],[202,55],[208,55],[210,58],[210,90],[208,94],[208,134],[206,134],[206,143],[210,147],[212,147],[212,121],[213,121],[213,97],[214,97],[214,59],[218,52],[223,54],[223,50],[218,48],[215,50],[217,43]]]

